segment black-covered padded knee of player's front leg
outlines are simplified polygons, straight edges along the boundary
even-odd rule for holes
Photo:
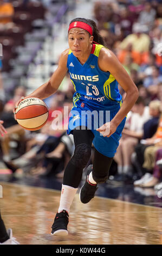
[[[91,147],[87,144],[79,144],[76,146],[74,155],[72,157],[72,163],[79,167],[85,168],[91,154]]]

